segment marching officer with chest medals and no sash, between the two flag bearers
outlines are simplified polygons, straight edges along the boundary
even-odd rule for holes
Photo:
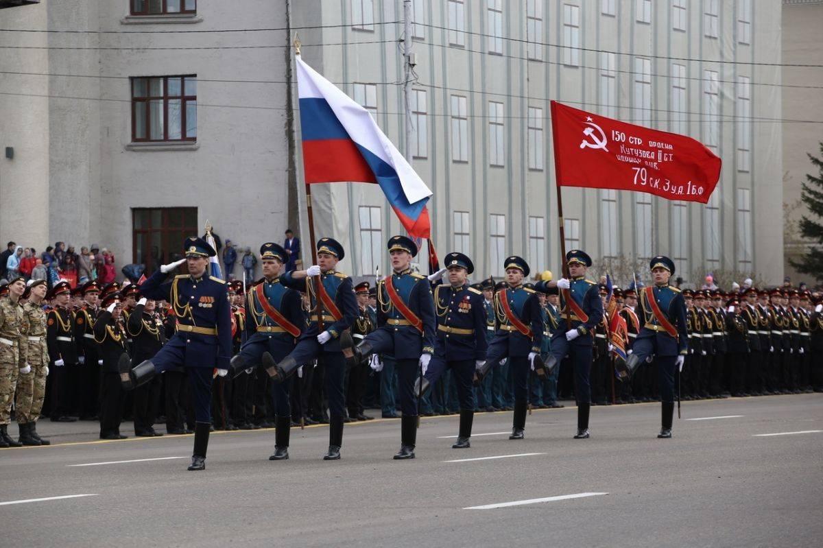
[[[451,369],[460,401],[458,441],[453,449],[471,447],[474,420],[474,390],[472,377],[477,367],[486,360],[486,311],[483,294],[467,283],[474,272],[474,263],[463,253],[449,253],[444,261],[448,270],[449,285],[439,283],[435,276],[435,314],[437,315],[437,341],[435,354],[425,372],[425,381],[435,381]],[[443,276],[443,271],[438,272]],[[425,392],[415,387],[415,392]]]

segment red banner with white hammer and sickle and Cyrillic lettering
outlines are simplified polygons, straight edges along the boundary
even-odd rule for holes
[[[703,143],[551,101],[558,186],[709,202],[720,159]]]

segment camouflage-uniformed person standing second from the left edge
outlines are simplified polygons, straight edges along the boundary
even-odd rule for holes
[[[43,310],[43,299],[48,286],[45,280],[37,280],[26,288],[24,297],[28,298],[23,305],[24,323],[28,326],[24,342],[21,345],[21,355],[26,358],[30,371],[17,378],[17,395],[15,398],[15,414],[17,425],[20,426],[20,438],[17,440],[23,445],[49,445],[49,440],[40,438],[37,434],[36,422],[43,409],[43,398],[46,391],[46,377],[49,375],[49,350],[46,347],[46,314]]]

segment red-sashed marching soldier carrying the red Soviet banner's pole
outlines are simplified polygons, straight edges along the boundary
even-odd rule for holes
[[[546,284],[560,290],[562,308],[561,327],[551,337],[551,356],[546,362],[546,369],[551,371],[566,355],[570,355],[574,368],[574,394],[577,397],[577,434],[574,434],[574,439],[587,439],[592,401],[588,382],[592,365],[592,332],[602,321],[603,304],[597,284],[586,279],[586,269],[592,266],[592,258],[579,249],[572,249],[565,258],[570,278],[560,278]]]

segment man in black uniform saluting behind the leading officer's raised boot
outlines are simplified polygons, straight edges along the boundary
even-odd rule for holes
[[[129,286],[129,291],[137,290],[138,286]],[[125,310],[123,310],[125,312]],[[163,319],[157,313],[157,301],[141,297],[126,320],[126,332],[132,338],[132,360],[142,364],[151,360],[165,344],[165,328]],[[148,383],[134,389],[134,434],[143,438],[161,436],[154,430],[157,409],[160,406],[160,377],[152,378]]]

